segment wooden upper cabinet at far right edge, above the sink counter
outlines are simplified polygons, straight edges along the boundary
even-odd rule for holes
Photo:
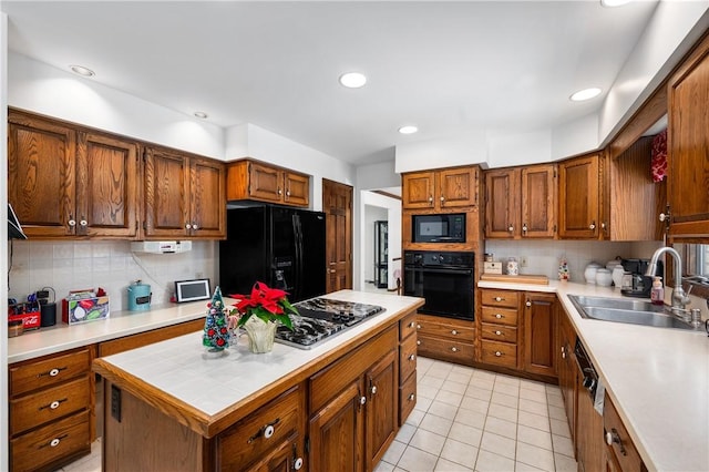
[[[670,236],[709,235],[709,37],[668,86]]]

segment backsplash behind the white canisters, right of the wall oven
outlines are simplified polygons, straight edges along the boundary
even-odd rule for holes
[[[595,242],[595,240],[497,240],[485,242],[485,253],[494,254],[495,260],[506,261],[508,257],[527,259],[521,274],[545,275],[552,280],[558,277],[558,263],[566,257],[571,280],[585,283],[584,270],[590,261],[603,264],[617,256],[623,258],[649,259],[660,242]]]

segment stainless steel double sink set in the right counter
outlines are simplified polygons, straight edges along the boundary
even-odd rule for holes
[[[623,298],[586,297],[569,295],[580,316],[604,321],[655,326],[659,328],[695,329],[690,324],[665,312],[661,306],[645,300]]]

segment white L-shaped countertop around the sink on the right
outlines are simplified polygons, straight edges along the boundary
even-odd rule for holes
[[[567,295],[620,297],[595,285],[480,281],[480,288],[556,293],[647,468],[709,471],[709,337],[582,318]]]

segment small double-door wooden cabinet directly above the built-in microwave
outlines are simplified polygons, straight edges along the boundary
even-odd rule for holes
[[[477,168],[451,167],[402,176],[403,209],[443,209],[477,204]]]

